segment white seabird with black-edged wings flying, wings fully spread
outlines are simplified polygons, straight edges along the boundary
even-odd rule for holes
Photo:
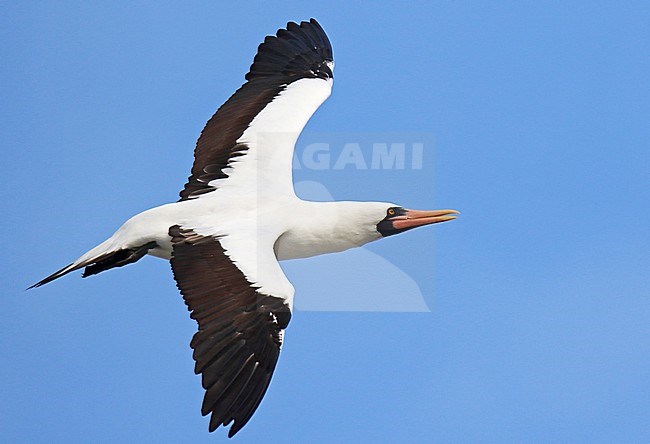
[[[145,255],[171,262],[197,321],[190,346],[210,432],[250,420],[271,381],[294,288],[278,261],[359,247],[455,219],[455,210],[384,202],[311,202],[294,192],[296,140],[332,90],[332,47],[311,19],[267,36],[242,85],[208,120],[180,200],[127,220],[111,237],[32,287]]]

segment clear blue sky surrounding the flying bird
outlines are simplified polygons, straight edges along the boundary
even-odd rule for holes
[[[336,80],[307,130],[433,144],[421,170],[297,178],[462,216],[364,250],[431,312],[297,311],[236,441],[650,441],[644,1],[3,2],[0,441],[226,440],[168,263],[24,289],[176,200],[259,42],[309,17]],[[338,257],[290,264],[298,299],[386,297]]]

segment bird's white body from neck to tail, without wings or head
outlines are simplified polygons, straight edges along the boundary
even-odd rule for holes
[[[238,213],[238,218],[232,219],[226,202],[215,202],[215,206],[202,203],[181,201],[143,211],[72,265],[99,253],[137,248],[150,242],[156,246],[147,254],[169,260],[173,251],[169,235],[172,225],[191,226],[201,234],[216,237],[236,232],[247,232],[245,237],[254,238],[268,234],[276,239],[273,249],[280,261],[336,253],[381,238],[373,226],[362,230],[356,220],[343,217],[350,208],[359,211],[360,207],[365,207],[361,209],[364,213],[382,215],[391,206],[381,202],[311,202],[295,195],[274,196],[273,200],[259,202],[253,197],[230,203]]]

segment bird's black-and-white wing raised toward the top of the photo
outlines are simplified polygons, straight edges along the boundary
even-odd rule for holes
[[[332,46],[314,19],[266,37],[247,82],[201,132],[181,200],[220,188],[226,178],[240,189],[292,190],[295,142],[329,97],[333,68]]]

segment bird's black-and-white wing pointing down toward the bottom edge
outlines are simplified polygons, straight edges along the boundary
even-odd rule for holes
[[[293,287],[272,246],[269,254],[255,257],[258,264],[248,268],[251,278],[236,265],[245,262],[244,256],[250,260],[241,250],[226,250],[219,239],[178,225],[169,234],[174,278],[190,316],[199,324],[190,346],[195,372],[201,374],[206,390],[201,412],[212,414],[211,432],[234,421],[228,432],[233,436],[251,418],[269,386],[291,318]],[[260,284],[257,276],[266,282]]]

